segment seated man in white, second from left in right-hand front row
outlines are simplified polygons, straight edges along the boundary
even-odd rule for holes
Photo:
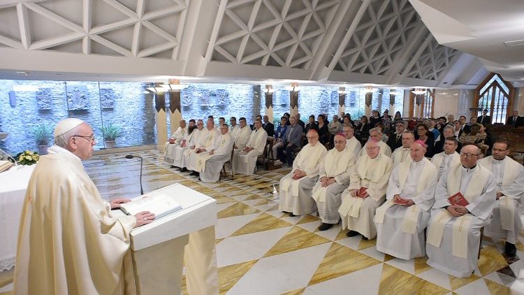
[[[320,179],[313,187],[313,199],[322,220],[319,231],[330,229],[340,220],[338,208],[342,203],[342,192],[349,186],[349,177],[355,168],[356,157],[354,150],[347,146],[346,136],[336,134],[333,143],[335,148],[329,150],[320,162]],[[361,143],[357,143],[360,146]]]

